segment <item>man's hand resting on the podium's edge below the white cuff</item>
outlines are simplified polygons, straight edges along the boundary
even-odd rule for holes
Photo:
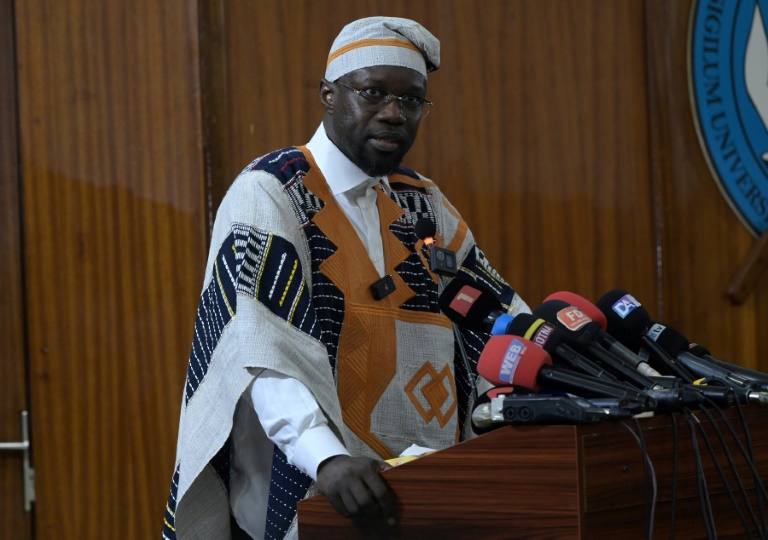
[[[317,488],[344,517],[383,517],[395,524],[392,492],[379,471],[386,464],[367,457],[333,456],[317,469]]]

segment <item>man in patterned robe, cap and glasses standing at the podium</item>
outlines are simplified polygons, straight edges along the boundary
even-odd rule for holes
[[[456,334],[440,312],[444,278],[415,223],[434,222],[461,279],[529,310],[438,187],[401,165],[439,64],[438,40],[414,21],[349,24],[312,139],[256,159],[222,201],[165,537],[295,538],[296,503],[318,492],[342,515],[393,524],[383,460],[473,436],[488,336]]]

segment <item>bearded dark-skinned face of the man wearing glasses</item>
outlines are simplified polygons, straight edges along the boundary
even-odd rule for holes
[[[373,94],[423,98],[426,77],[408,68],[375,66],[352,71],[335,83],[321,84],[328,138],[367,174],[395,172],[416,140],[421,116],[403,108],[396,99],[386,105],[373,104],[344,85]]]

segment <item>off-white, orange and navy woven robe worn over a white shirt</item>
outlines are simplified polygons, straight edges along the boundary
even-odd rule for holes
[[[445,448],[472,436],[470,378],[488,336],[462,331],[467,373],[414,223],[436,223],[460,277],[493,290],[512,314],[528,306],[434,183],[405,168],[388,178],[391,196],[379,190],[377,206],[396,288],[381,300],[370,291],[379,275],[308,150],[263,156],[229,189],[195,322],[165,537],[228,538],[233,474],[261,502],[253,512],[264,537],[295,537],[296,503],[316,491],[249,403],[263,369],[305,384],[353,455],[389,459],[413,443]],[[253,456],[248,470],[230,463],[233,446]]]

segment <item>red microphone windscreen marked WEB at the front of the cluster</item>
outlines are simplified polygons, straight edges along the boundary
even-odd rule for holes
[[[492,336],[480,354],[477,372],[495,386],[523,386],[538,391],[536,378],[552,359],[544,349],[518,336]]]

